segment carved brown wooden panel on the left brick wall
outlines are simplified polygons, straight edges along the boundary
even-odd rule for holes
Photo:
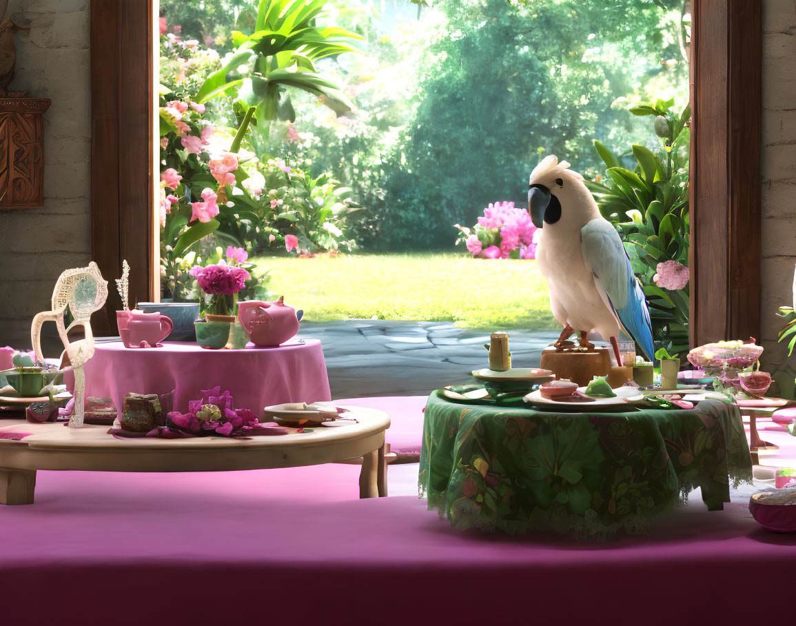
[[[41,114],[49,100],[0,98],[0,209],[44,204]]]

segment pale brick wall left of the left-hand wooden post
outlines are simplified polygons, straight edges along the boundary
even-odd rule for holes
[[[91,257],[89,0],[10,0],[7,15],[31,27],[14,36],[10,88],[53,101],[44,115],[44,206],[0,211],[0,346],[25,347],[60,272]]]

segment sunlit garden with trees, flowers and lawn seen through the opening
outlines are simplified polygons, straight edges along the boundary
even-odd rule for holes
[[[688,254],[682,0],[160,6],[164,298],[226,259],[240,297],[306,319],[555,328],[521,210],[554,154],[624,237],[658,342],[687,343],[688,288],[656,272]]]

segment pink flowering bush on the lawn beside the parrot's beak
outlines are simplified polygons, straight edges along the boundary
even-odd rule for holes
[[[474,256],[486,259],[535,259],[537,227],[531,216],[513,202],[495,202],[484,209],[483,217],[471,230],[456,225],[461,231],[459,241]]]

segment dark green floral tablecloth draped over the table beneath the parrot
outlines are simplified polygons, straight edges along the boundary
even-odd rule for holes
[[[435,392],[426,405],[420,493],[460,529],[638,534],[696,487],[709,510],[721,510],[731,480],[751,481],[751,460],[738,407],[720,401],[548,413]]]

